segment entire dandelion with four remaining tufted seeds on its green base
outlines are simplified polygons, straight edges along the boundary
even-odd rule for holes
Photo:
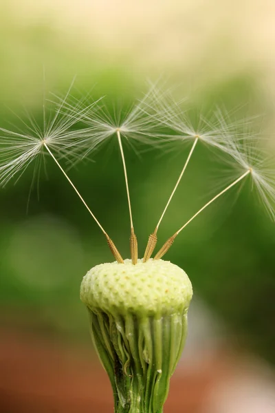
[[[228,125],[221,112],[214,114],[214,123],[200,118],[199,126],[194,128],[179,104],[154,87],[124,116],[111,116],[102,106],[102,100],[87,105],[86,100],[68,101],[66,97],[56,108],[50,123],[45,120],[44,111],[42,129],[32,118],[27,134],[1,129],[0,182],[7,184],[12,176],[22,173],[30,162],[44,153],[53,158],[67,178],[107,237],[116,260],[91,268],[80,287],[80,299],[89,311],[91,337],[113,388],[115,412],[161,413],[170,377],[184,348],[187,313],[192,299],[188,275],[162,257],[192,220],[248,178],[274,219],[274,170],[264,167],[265,160],[254,147],[255,140],[251,142],[249,134],[246,136],[236,131],[237,125]],[[84,129],[71,130],[77,123],[83,123]],[[131,260],[122,260],[109,235],[61,166],[63,158],[69,162],[82,160],[110,139],[118,143],[122,159],[131,226]],[[133,148],[137,142],[157,146],[191,142],[179,178],[154,233],[149,237],[143,259],[138,257],[137,251],[124,142]],[[225,162],[230,159],[238,176],[231,177],[221,191],[181,225],[152,259],[159,225],[200,142],[209,149],[214,147],[224,156]]]

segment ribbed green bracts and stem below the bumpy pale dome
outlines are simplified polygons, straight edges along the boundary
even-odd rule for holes
[[[113,388],[115,413],[162,413],[184,346],[186,315],[89,314],[92,339]]]

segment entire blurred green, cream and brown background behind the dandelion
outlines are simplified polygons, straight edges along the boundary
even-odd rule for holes
[[[2,0],[1,127],[21,127],[22,105],[41,121],[43,88],[64,94],[75,75],[76,96],[94,88],[110,109],[142,96],[146,79],[162,77],[198,111],[221,105],[239,108],[239,118],[260,114],[275,157],[274,23],[271,0]],[[186,153],[152,149],[137,157],[126,149],[140,251]],[[126,257],[118,148],[102,147],[93,160],[70,177]],[[197,151],[159,242],[209,199],[211,161]],[[0,412],[110,412],[111,386],[78,291],[87,270],[112,257],[56,165],[47,162],[30,192],[32,172],[0,192]],[[166,255],[195,290],[166,412],[275,412],[275,226],[250,192],[246,185],[238,199],[235,191],[218,202]]]

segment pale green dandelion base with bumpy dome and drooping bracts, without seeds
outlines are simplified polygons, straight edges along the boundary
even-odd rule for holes
[[[80,298],[115,412],[162,412],[186,339],[192,298],[186,273],[163,260],[100,264],[85,275]]]

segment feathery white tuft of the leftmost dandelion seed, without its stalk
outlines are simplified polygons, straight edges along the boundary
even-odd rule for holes
[[[41,165],[45,165],[45,155],[48,155],[45,145],[54,151],[56,158],[64,159],[69,165],[83,158],[81,142],[85,132],[74,129],[74,126],[87,111],[91,113],[98,100],[87,105],[85,109],[76,105],[76,114],[72,116],[72,112],[67,111],[66,107],[71,98],[73,84],[74,81],[65,96],[58,97],[58,105],[53,102],[50,105],[49,101],[46,105],[45,96],[43,97],[41,125],[25,109],[24,117],[14,114],[19,118],[21,129],[24,131],[19,126],[14,126],[17,131],[0,128],[0,185],[7,184],[18,173],[21,176],[33,160],[37,161],[34,172],[39,175]]]

